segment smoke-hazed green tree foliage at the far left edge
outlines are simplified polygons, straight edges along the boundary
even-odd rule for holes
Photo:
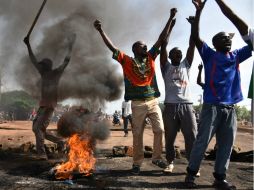
[[[27,119],[34,107],[37,107],[36,100],[25,91],[9,91],[1,95],[0,111],[12,112],[17,120]]]

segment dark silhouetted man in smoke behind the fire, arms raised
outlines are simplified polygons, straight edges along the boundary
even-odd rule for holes
[[[40,107],[37,111],[37,115],[33,120],[33,132],[36,138],[36,159],[47,160],[47,154],[44,147],[44,140],[47,139],[58,144],[58,147],[63,147],[64,143],[62,139],[49,134],[46,128],[49,125],[55,106],[57,105],[57,87],[62,76],[62,73],[68,65],[71,57],[71,51],[75,42],[76,36],[72,36],[68,47],[67,56],[64,59],[62,65],[56,69],[52,69],[53,63],[50,59],[45,58],[41,61],[37,61],[30,46],[29,38],[24,38],[24,43],[27,45],[29,57],[32,64],[38,70],[41,75],[41,100]]]

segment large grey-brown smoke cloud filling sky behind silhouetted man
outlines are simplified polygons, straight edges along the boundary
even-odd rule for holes
[[[30,37],[37,59],[50,58],[54,68],[58,67],[66,56],[68,36],[77,35],[71,61],[60,80],[58,100],[74,98],[103,105],[119,99],[123,89],[120,66],[112,60],[111,52],[93,28],[93,21],[100,19],[113,43],[131,54],[133,42],[157,40],[172,7],[165,6],[165,2],[156,2],[154,7],[153,1],[145,0],[48,0]],[[0,39],[5,41],[1,44],[4,82],[38,99],[40,76],[22,40],[41,3],[42,0],[0,2],[0,24],[4,25]]]

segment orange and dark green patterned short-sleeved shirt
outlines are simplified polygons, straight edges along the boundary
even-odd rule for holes
[[[155,75],[155,59],[158,54],[159,50],[152,47],[144,61],[139,62],[119,50],[113,53],[113,58],[123,68],[125,100],[142,100],[160,96]]]

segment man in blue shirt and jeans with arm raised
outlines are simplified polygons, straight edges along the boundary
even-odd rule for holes
[[[213,186],[216,189],[234,189],[226,181],[226,172],[237,130],[235,104],[243,99],[239,64],[251,57],[252,48],[247,45],[231,51],[233,35],[227,32],[219,32],[212,38],[215,50],[209,47],[199,36],[200,15],[206,1],[192,2],[196,7],[196,16],[191,35],[204,63],[205,85],[200,126],[191,151],[185,182],[188,188],[196,187],[195,175],[210,140],[216,135],[218,149]]]

